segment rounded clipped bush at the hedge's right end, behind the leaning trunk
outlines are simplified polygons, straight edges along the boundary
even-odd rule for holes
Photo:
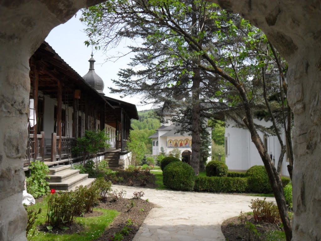
[[[265,167],[255,165],[249,168],[246,172],[248,178],[248,185],[251,192],[270,193],[272,187],[269,177],[266,173]]]

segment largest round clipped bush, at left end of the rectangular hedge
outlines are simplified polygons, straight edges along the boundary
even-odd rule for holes
[[[184,162],[171,162],[164,168],[163,183],[173,190],[193,191],[195,185],[195,172]]]

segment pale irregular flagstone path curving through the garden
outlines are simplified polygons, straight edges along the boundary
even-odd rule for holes
[[[143,191],[143,199],[157,204],[145,219],[133,241],[224,241],[221,223],[250,211],[253,196],[180,192],[113,185],[125,190],[126,198]],[[263,199],[262,197],[260,199]],[[268,197],[267,201],[275,201]]]

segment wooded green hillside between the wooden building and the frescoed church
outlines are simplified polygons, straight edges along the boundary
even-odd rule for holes
[[[146,145],[146,154],[152,154],[152,139],[148,138],[156,132],[156,129],[161,126],[160,121],[152,116],[152,110],[139,111],[139,120],[132,120],[131,136],[139,139]]]

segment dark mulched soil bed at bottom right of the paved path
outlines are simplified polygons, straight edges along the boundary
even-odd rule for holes
[[[267,222],[255,222],[253,216],[248,216],[247,221],[255,225],[256,230],[261,234],[260,241],[265,241],[265,232],[282,229],[278,225],[267,223]],[[241,225],[240,219],[238,217],[233,217],[226,219],[221,225],[222,233],[226,240],[229,241],[248,241],[257,240],[251,235],[249,238],[249,230]]]

